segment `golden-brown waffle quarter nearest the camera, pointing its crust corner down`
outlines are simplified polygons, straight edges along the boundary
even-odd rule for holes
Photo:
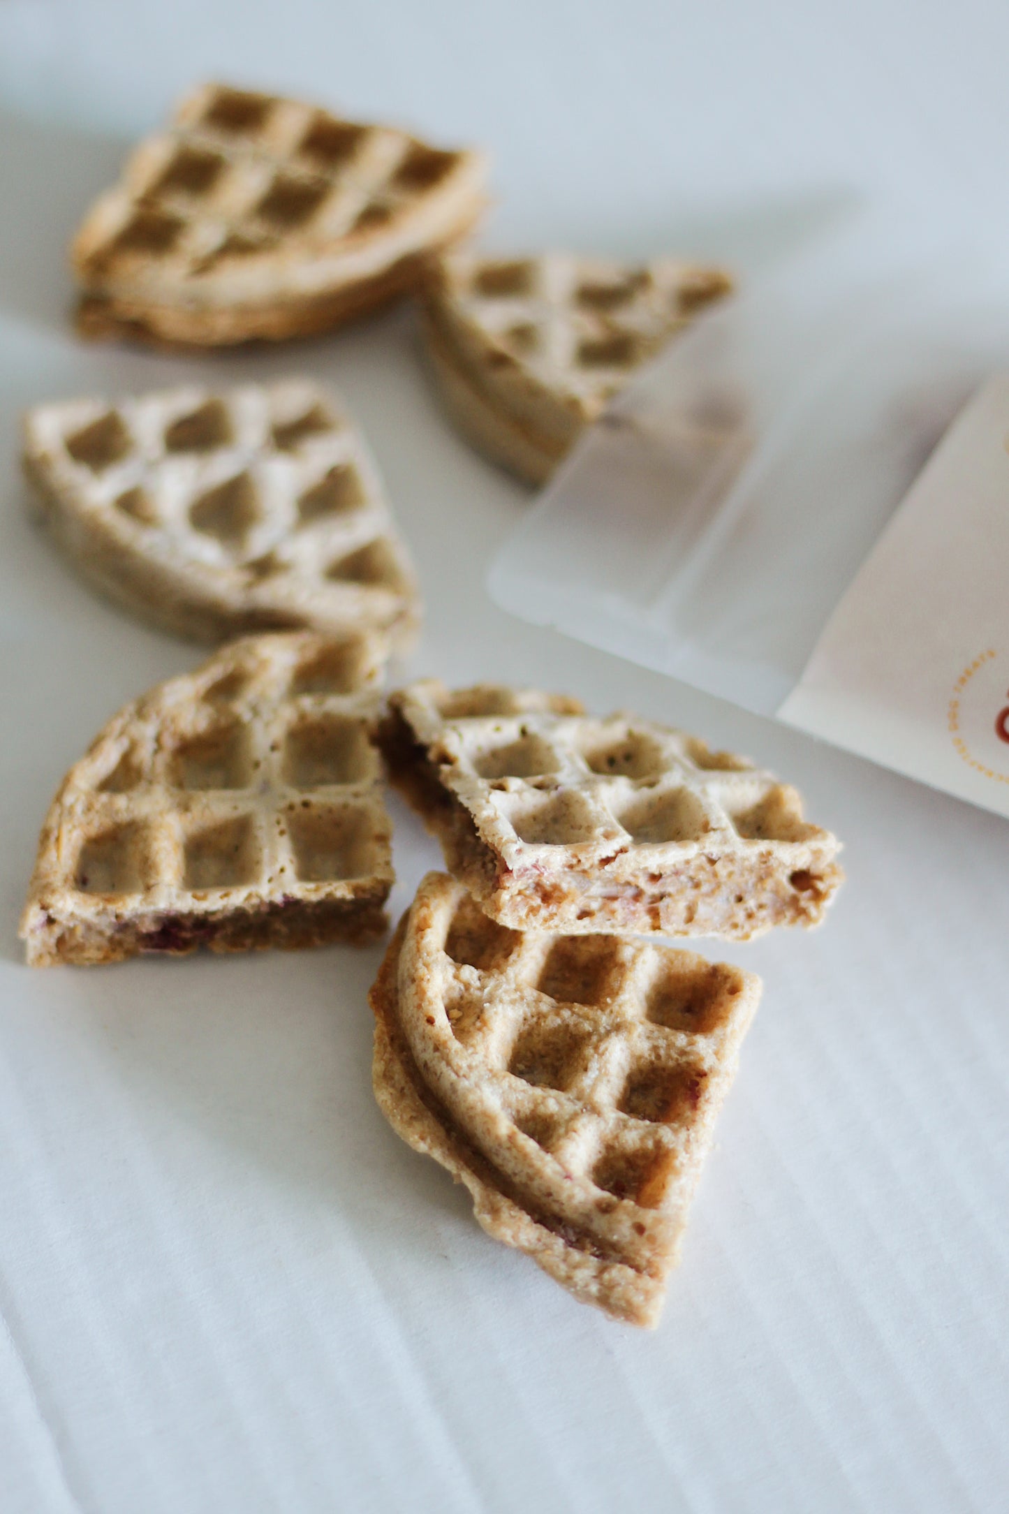
[[[428,874],[371,1002],[390,1125],[575,1297],[655,1325],[759,978],[495,925]]]

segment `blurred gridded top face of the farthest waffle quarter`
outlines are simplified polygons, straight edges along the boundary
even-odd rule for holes
[[[206,86],[148,138],[79,238],[86,279],[151,265],[174,285],[257,256],[395,235],[469,154],[295,100]]]

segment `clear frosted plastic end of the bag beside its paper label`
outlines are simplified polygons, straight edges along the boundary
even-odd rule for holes
[[[846,739],[841,721],[796,718],[797,690],[936,444],[998,369],[1003,260],[924,256],[877,224],[849,229],[713,310],[634,378],[505,544],[492,593],[525,619],[912,771],[871,749],[868,693],[856,722],[867,740]],[[958,466],[968,497],[970,454]],[[959,477],[944,495],[952,537]],[[974,528],[988,531],[995,509]],[[914,553],[914,522],[903,530]],[[964,565],[964,581],[923,586],[938,622],[967,621],[953,662],[980,636],[961,604],[970,580]],[[894,592],[897,624],[908,584]],[[1009,595],[985,615],[982,639],[1009,646]],[[933,653],[926,636],[921,657]],[[947,713],[936,709],[944,736]],[[1006,759],[1009,777],[1009,745]],[[964,792],[924,766],[917,777]],[[1004,808],[1003,790],[992,807]]]

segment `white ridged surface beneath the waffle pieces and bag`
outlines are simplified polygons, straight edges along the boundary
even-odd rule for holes
[[[70,335],[64,245],[194,79],[486,144],[498,245],[714,254],[903,200],[1003,238],[1000,0],[0,0],[0,1508],[995,1511],[1009,1479],[1009,824],[496,610],[525,494],[442,419],[407,309],[201,362]],[[428,604],[410,671],[635,707],[847,842],[765,999],[666,1316],[608,1323],[386,1128],[380,951],[21,966],[62,772],[194,648],[29,524],[36,400],[304,368],[363,421]],[[812,503],[814,506],[815,503]],[[410,898],[437,851],[401,807]]]

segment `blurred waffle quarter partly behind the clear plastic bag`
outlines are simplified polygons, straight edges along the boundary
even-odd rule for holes
[[[428,345],[461,430],[542,483],[632,369],[729,289],[722,269],[672,259],[449,253],[427,298]]]

